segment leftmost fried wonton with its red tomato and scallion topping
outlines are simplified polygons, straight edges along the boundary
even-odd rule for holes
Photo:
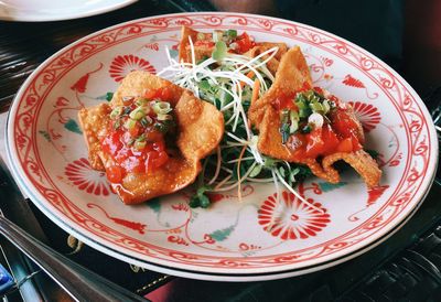
[[[215,106],[146,72],[128,74],[109,104],[83,108],[78,117],[92,166],[106,171],[126,204],[193,183],[224,133]]]

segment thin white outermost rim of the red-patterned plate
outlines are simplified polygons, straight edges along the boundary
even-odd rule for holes
[[[219,14],[219,12],[215,12],[216,14]],[[86,36],[84,36],[83,39],[80,39],[80,40],[78,40],[78,41],[76,41],[76,42],[74,42],[74,43],[72,43],[72,44],[69,44],[69,45],[67,45],[67,46],[65,46],[65,47],[63,47],[62,50],[60,50],[58,52],[56,52],[56,53],[54,53],[52,56],[50,56],[46,61],[44,61],[29,77],[28,77],[28,79],[22,84],[22,86],[21,86],[21,88],[20,88],[20,90],[18,91],[18,94],[15,95],[15,98],[14,98],[14,101],[13,101],[13,104],[12,104],[12,106],[11,106],[11,109],[12,108],[15,108],[17,107],[17,104],[18,104],[18,99],[21,97],[21,95],[23,94],[23,91],[24,91],[24,87],[26,87],[26,85],[29,85],[29,82],[35,76],[35,74],[37,74],[39,72],[40,72],[40,69],[43,69],[50,62],[52,62],[52,58],[53,57],[55,57],[55,56],[57,56],[57,55],[60,55],[61,53],[63,53],[63,52],[65,52],[65,51],[67,51],[67,50],[69,50],[71,47],[73,47],[74,45],[76,45],[76,44],[78,44],[78,43],[82,43],[84,40],[88,40],[88,39],[90,39],[92,36],[96,36],[96,35],[99,35],[100,33],[103,33],[103,32],[105,32],[105,31],[109,31],[109,30],[111,30],[111,29],[115,29],[115,28],[119,28],[119,26],[123,26],[125,24],[129,24],[129,23],[138,23],[138,22],[140,22],[140,21],[144,21],[144,20],[149,20],[149,19],[158,19],[158,18],[179,18],[179,17],[189,17],[189,15],[206,15],[206,14],[214,14],[214,12],[196,12],[196,13],[172,13],[172,14],[162,14],[162,15],[154,15],[154,17],[148,17],[148,18],[140,18],[140,19],[136,19],[136,20],[130,20],[130,21],[127,21],[127,22],[122,22],[122,23],[119,23],[119,24],[116,24],[116,25],[114,25],[114,26],[109,26],[109,28],[106,28],[106,29],[103,29],[103,30],[100,30],[100,31],[97,31],[97,32],[94,32],[94,33],[92,33],[92,34],[89,34],[89,35],[86,35]],[[377,61],[383,67],[385,67],[388,72],[390,72],[391,74],[392,74],[392,76],[395,77],[395,78],[398,78],[399,80],[400,80],[400,84],[406,88],[406,89],[408,89],[409,90],[409,93],[416,98],[416,103],[417,103],[417,105],[420,107],[420,109],[421,109],[421,111],[423,111],[424,112],[424,117],[430,117],[430,115],[429,115],[429,111],[427,110],[427,107],[426,107],[426,105],[423,104],[423,101],[421,100],[421,98],[418,96],[418,94],[413,90],[413,88],[398,74],[398,73],[396,73],[390,66],[388,66],[387,64],[385,64],[381,60],[379,60],[378,57],[376,57],[375,55],[373,55],[372,53],[369,53],[368,51],[366,51],[366,50],[364,50],[364,48],[362,48],[361,46],[358,46],[358,45],[356,45],[356,44],[354,44],[354,43],[352,43],[352,42],[349,42],[349,41],[347,41],[347,40],[345,40],[345,39],[343,39],[343,37],[340,37],[340,36],[337,36],[337,35],[335,35],[335,34],[332,34],[332,33],[329,33],[329,32],[326,32],[326,31],[323,31],[323,30],[320,30],[320,29],[318,29],[318,28],[314,28],[314,26],[310,26],[310,25],[305,25],[305,24],[302,24],[302,23],[299,23],[299,22],[294,22],[294,21],[290,21],[290,20],[284,20],[284,19],[279,19],[279,18],[271,18],[271,17],[265,17],[265,15],[257,15],[257,14],[245,14],[245,13],[228,13],[228,12],[225,12],[225,13],[220,13],[220,14],[223,14],[223,15],[236,15],[236,17],[238,17],[238,18],[240,18],[240,17],[251,17],[251,18],[262,18],[262,19],[267,19],[267,20],[277,20],[277,21],[282,21],[282,22],[287,22],[287,23],[291,23],[291,24],[293,24],[293,25],[301,25],[301,26],[303,26],[303,28],[306,28],[306,29],[311,29],[311,30],[313,30],[313,31],[316,31],[316,32],[320,32],[320,33],[324,33],[324,34],[326,34],[326,35],[330,35],[330,36],[332,36],[332,37],[335,37],[335,39],[337,39],[337,40],[340,40],[340,41],[343,41],[344,43],[347,43],[351,47],[355,47],[357,51],[361,51],[362,53],[364,53],[364,54],[367,54],[370,58],[374,58],[375,61]],[[14,106],[15,105],[15,106]],[[421,106],[422,105],[422,106]],[[12,125],[12,118],[10,118],[10,116],[11,116],[11,112],[12,112],[12,110],[10,110],[10,115],[8,116],[8,127],[7,127],[7,129],[9,129],[10,127],[10,123]],[[431,119],[430,119],[430,121],[431,121]],[[8,131],[8,130],[7,130]],[[12,130],[11,130],[12,131]],[[429,125],[428,123],[428,132],[432,132],[431,134],[433,136],[433,131],[434,131],[434,128],[433,128],[433,125]],[[8,131],[8,134],[7,134],[7,151],[8,151],[8,159],[10,160],[10,163],[12,163],[13,162],[13,155],[12,155],[12,150],[10,149],[10,145],[9,145],[9,139],[11,138],[11,136],[9,134],[9,131]],[[435,141],[435,142],[432,142],[433,143],[433,145],[432,145],[432,149],[431,150],[433,150],[433,151],[437,151],[438,150],[438,141]],[[13,147],[12,147],[13,148]],[[434,166],[435,168],[435,165],[437,165],[437,163],[438,163],[438,157],[432,157],[431,158],[431,161],[429,162],[429,164],[428,164],[428,168],[430,168],[430,166]],[[12,166],[14,166],[13,164],[12,164]],[[434,175],[434,171],[435,171],[435,169],[431,169],[431,181],[427,181],[427,179],[421,183],[421,185],[422,184],[424,184],[424,186],[426,186],[426,188],[427,188],[427,192],[423,192],[423,193],[420,193],[420,192],[418,192],[418,193],[416,193],[415,195],[417,196],[419,196],[418,198],[416,198],[416,199],[418,199],[418,202],[416,201],[416,204],[413,205],[413,207],[412,207],[412,209],[410,211],[410,212],[412,212],[413,211],[413,208],[416,208],[416,207],[418,207],[419,206],[419,204],[420,203],[422,203],[422,201],[423,201],[423,198],[424,198],[424,194],[427,194],[428,193],[428,191],[430,190],[430,186],[431,186],[431,183],[432,183],[432,181],[433,181],[433,175]],[[15,166],[14,166],[14,169],[15,169]],[[14,171],[14,170],[13,170]],[[18,174],[19,176],[21,176],[22,177],[22,175],[20,175],[21,173],[23,173],[23,171],[14,171],[14,173],[13,174]],[[15,180],[17,180],[17,175],[14,175],[15,176]],[[24,176],[24,179],[26,179],[25,176]],[[23,181],[23,179],[20,179],[21,181]],[[24,182],[25,183],[25,182]],[[21,184],[21,186],[24,186],[26,190],[28,190],[28,187],[25,186],[25,185],[23,185],[23,184]],[[39,198],[36,198],[36,199],[39,199]],[[34,202],[34,201],[33,201]],[[35,202],[34,202],[35,203]],[[41,206],[43,206],[43,205],[41,205]],[[409,213],[410,213],[409,212]],[[408,213],[408,214],[409,214]],[[45,212],[45,215],[46,216],[50,216],[50,215],[47,215],[46,214],[46,212]],[[56,217],[54,217],[54,218],[56,218]],[[401,219],[400,220],[398,220],[397,222],[397,225],[401,225],[401,222],[402,220],[406,220],[406,218],[407,218],[407,215],[406,216],[404,216],[404,217],[401,217]],[[63,222],[61,220],[61,223],[63,224]],[[60,224],[58,224],[60,225]],[[64,224],[63,224],[64,225]],[[67,226],[66,225],[66,227],[67,227],[67,229],[69,230],[69,231],[72,231],[72,230],[74,230],[74,231],[76,231],[75,229],[73,229],[72,227],[69,227],[69,226]],[[395,227],[395,226],[394,226]],[[392,227],[392,228],[394,228]],[[381,229],[381,230],[384,230],[384,228]],[[380,235],[376,235],[375,237],[378,239],[378,238],[383,238],[384,237],[384,235],[385,234],[387,234],[388,231],[390,231],[390,228],[387,228],[387,231],[386,230],[384,230],[384,231],[380,231],[381,234]],[[76,231],[76,233],[78,233],[78,231]],[[92,240],[92,241],[94,241],[94,242],[96,242],[96,244],[98,244],[98,245],[101,245],[101,244],[99,244],[99,242],[97,242],[97,241],[95,241],[94,239],[92,239],[92,238],[89,238],[89,240]],[[369,241],[369,244],[367,244],[367,245],[363,245],[363,247],[365,247],[365,246],[370,246],[373,242],[375,242],[376,240],[372,240],[372,241]],[[105,249],[110,249],[110,248],[108,248],[108,247],[106,247],[106,246],[104,246],[103,245],[103,248],[105,248]],[[355,250],[357,250],[357,249],[355,249]],[[347,251],[347,252],[345,252],[345,255],[347,255],[347,254],[352,254],[352,252],[354,252],[354,250],[349,250],[349,251]],[[129,257],[132,257],[132,256],[129,256]],[[341,256],[341,257],[344,257],[344,256]],[[135,257],[136,258],[136,257]],[[228,258],[228,257],[226,257],[226,258]],[[162,261],[164,261],[164,260],[162,260],[162,259],[159,259],[161,262]],[[331,260],[330,260],[331,261]],[[186,266],[186,265],[185,265]],[[300,266],[300,268],[301,268],[302,266]],[[278,269],[277,269],[278,267],[273,267],[272,269],[273,269],[273,271],[272,272],[268,272],[268,273],[270,273],[270,274],[277,274],[277,272],[279,271]],[[209,269],[209,268],[206,268],[206,269]],[[268,269],[268,268],[267,268]],[[256,270],[261,270],[261,268],[258,268],[258,269],[256,269]],[[200,271],[196,271],[196,273],[201,273]],[[238,276],[239,273],[237,273],[237,272],[235,272],[234,273],[234,276]]]

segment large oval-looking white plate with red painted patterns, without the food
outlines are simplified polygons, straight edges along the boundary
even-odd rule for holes
[[[164,47],[176,55],[181,25],[236,29],[258,41],[300,45],[314,83],[351,101],[369,149],[380,153],[380,186],[353,172],[337,185],[300,185],[324,213],[275,187],[245,185],[212,196],[208,209],[189,193],[125,206],[104,173],[93,171],[78,128],[82,106],[105,101],[132,69],[158,72]],[[412,88],[385,63],[324,31],[237,13],[170,14],[86,36],[50,57],[17,95],[8,121],[12,172],[36,206],[86,244],[149,269],[207,280],[250,281],[301,274],[351,259],[397,230],[426,196],[438,160],[434,127]],[[271,217],[277,226],[266,231]]]

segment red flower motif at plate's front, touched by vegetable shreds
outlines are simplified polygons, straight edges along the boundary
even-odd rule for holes
[[[275,237],[281,239],[306,239],[314,237],[331,222],[330,214],[320,204],[309,199],[315,207],[302,203],[294,194],[282,192],[278,202],[277,194],[269,196],[259,208],[259,224]]]

